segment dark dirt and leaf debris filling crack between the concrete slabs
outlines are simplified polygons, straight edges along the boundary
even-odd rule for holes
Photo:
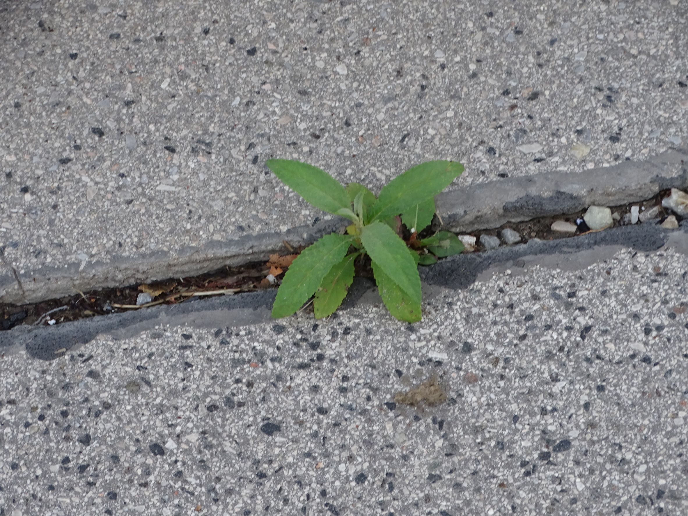
[[[631,206],[652,208],[658,206],[660,213],[654,222],[665,218],[664,208],[660,202],[668,191],[658,193],[652,199],[645,202],[634,202],[625,206],[612,207],[612,213],[619,215],[619,220],[614,226],[621,225],[624,215],[630,213]],[[504,228],[510,228],[522,237],[523,241],[532,238],[541,240],[554,240],[561,238],[577,237],[587,230],[584,223],[577,224],[576,233],[557,233],[550,229],[555,220],[565,220],[577,223],[581,220],[585,210],[570,215],[556,217],[539,217],[527,222],[508,223],[499,228],[477,230],[469,232],[476,237],[476,251],[484,248],[480,244],[480,235],[497,236]],[[438,227],[439,221],[433,221],[433,229]],[[429,233],[425,230],[424,233]],[[424,235],[424,236],[428,236]],[[407,238],[409,235],[403,235]],[[291,250],[292,254],[286,256],[270,255],[268,263],[248,264],[239,268],[223,268],[195,277],[182,279],[166,279],[155,281],[147,285],[125,286],[120,288],[105,288],[89,292],[77,292],[69,297],[50,299],[39,303],[27,305],[10,305],[0,303],[0,331],[11,330],[17,325],[54,325],[86,319],[89,317],[126,312],[128,310],[146,310],[154,305],[186,303],[200,297],[210,297],[224,294],[236,294],[239,292],[253,292],[265,288],[275,288],[283,277],[283,272],[297,256],[300,249]],[[356,275],[372,277],[369,260],[363,259],[356,262]],[[151,302],[137,305],[139,294],[149,294]]]

